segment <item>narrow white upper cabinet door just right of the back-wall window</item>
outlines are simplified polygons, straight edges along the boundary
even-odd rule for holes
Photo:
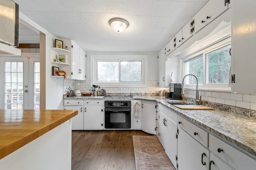
[[[161,49],[158,53],[158,87],[165,87],[165,49]]]

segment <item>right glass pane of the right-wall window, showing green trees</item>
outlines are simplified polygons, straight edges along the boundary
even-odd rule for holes
[[[206,83],[228,83],[231,57],[231,45],[206,54]]]

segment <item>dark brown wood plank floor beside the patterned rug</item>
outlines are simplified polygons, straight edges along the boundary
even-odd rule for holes
[[[143,131],[72,131],[72,170],[136,170],[133,135]]]

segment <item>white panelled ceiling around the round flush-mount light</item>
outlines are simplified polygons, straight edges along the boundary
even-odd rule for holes
[[[85,51],[158,52],[208,0],[14,0],[20,12]],[[108,21],[129,22],[123,33]],[[24,27],[22,29],[22,27]],[[30,34],[32,33],[32,34]],[[39,35],[20,27],[20,43],[38,43]]]

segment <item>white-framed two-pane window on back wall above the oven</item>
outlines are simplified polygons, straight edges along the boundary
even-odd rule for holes
[[[91,55],[91,85],[145,87],[147,55]]]

